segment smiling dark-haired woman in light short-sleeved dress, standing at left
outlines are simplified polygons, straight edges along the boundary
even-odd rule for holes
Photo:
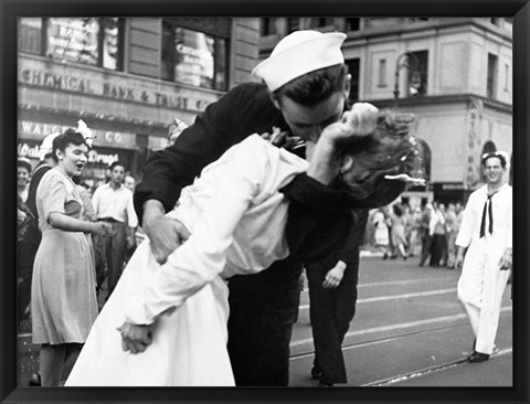
[[[42,241],[31,288],[33,343],[40,344],[43,386],[59,386],[66,362],[81,351],[97,316],[94,262],[85,233],[106,234],[106,223],[83,221],[83,201],[73,176],[81,174],[88,146],[82,134],[66,130],[53,140],[57,166],[36,190]],[[67,372],[66,372],[67,373]]]

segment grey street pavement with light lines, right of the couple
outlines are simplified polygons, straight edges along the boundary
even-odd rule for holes
[[[343,343],[343,386],[511,386],[512,307],[504,296],[496,351],[468,363],[473,332],[456,297],[460,272],[417,258],[361,258],[356,318]],[[307,287],[307,284],[306,284]],[[315,386],[307,290],[292,341],[290,385]]]

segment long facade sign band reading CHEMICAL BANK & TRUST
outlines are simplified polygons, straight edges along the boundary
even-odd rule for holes
[[[20,59],[19,84],[193,113],[204,110],[220,96],[211,91],[177,86],[168,91],[167,85],[161,86],[156,81],[135,79],[114,72],[87,72],[74,65],[56,64],[51,68],[50,63],[53,62]]]

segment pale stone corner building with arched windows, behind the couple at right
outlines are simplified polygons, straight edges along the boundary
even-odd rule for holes
[[[351,102],[417,116],[426,189],[411,204],[465,202],[486,151],[512,153],[511,21],[496,18],[266,18],[259,55],[298,29],[341,31]]]

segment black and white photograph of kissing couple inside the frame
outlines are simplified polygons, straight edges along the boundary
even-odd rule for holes
[[[513,390],[513,17],[53,15],[17,387]]]

